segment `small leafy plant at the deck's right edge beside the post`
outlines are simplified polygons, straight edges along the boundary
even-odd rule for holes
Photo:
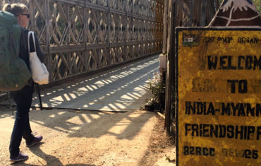
[[[161,73],[154,73],[153,79],[149,78],[149,82],[145,85],[147,90],[152,91],[152,95],[156,102],[160,102],[162,94],[165,92],[164,87],[165,83]]]

